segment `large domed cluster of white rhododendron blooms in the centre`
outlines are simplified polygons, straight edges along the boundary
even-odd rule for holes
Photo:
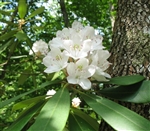
[[[73,22],[72,28],[58,31],[56,38],[49,42],[50,51],[43,58],[47,67],[44,72],[63,70],[68,83],[78,84],[85,90],[91,88],[90,79],[106,81],[110,78],[105,72],[110,65],[107,61],[110,53],[104,50],[102,40],[101,35],[95,35],[93,27]],[[39,46],[38,50],[44,54],[48,47],[44,48]]]

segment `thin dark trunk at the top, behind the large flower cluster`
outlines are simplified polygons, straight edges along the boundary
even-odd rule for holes
[[[68,27],[69,26],[69,19],[68,19],[68,14],[67,14],[67,10],[66,10],[66,7],[65,7],[64,0],[60,0],[59,4],[60,4],[61,12],[63,14],[63,19],[64,19],[65,27]]]

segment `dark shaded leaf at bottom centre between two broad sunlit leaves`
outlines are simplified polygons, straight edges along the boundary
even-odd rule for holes
[[[70,131],[98,131],[95,130],[87,121],[81,117],[70,113],[69,115],[69,130]]]

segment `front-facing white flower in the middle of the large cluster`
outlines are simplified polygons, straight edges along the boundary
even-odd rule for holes
[[[86,57],[91,49],[91,44],[91,40],[82,41],[78,35],[75,35],[71,40],[64,40],[63,43],[66,55],[75,60]]]

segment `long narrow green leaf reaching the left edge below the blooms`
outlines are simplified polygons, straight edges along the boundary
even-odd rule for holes
[[[0,108],[6,106],[7,104],[9,104],[9,103],[11,103],[11,102],[14,102],[14,101],[18,100],[19,98],[21,98],[21,97],[23,97],[23,96],[25,96],[25,95],[28,95],[28,94],[30,94],[30,93],[32,93],[32,92],[34,92],[34,91],[37,91],[37,90],[42,89],[42,88],[44,88],[44,87],[46,87],[46,86],[49,86],[49,85],[58,84],[59,82],[61,82],[61,81],[60,81],[60,80],[59,80],[59,81],[56,80],[56,81],[48,81],[48,82],[45,82],[45,83],[41,84],[41,86],[40,86],[39,88],[32,89],[32,90],[30,90],[30,91],[28,91],[28,92],[26,92],[26,93],[20,94],[20,95],[18,95],[18,96],[16,96],[16,97],[13,97],[13,98],[11,98],[11,99],[8,99],[8,100],[5,100],[5,101],[3,101],[3,102],[0,102]]]

